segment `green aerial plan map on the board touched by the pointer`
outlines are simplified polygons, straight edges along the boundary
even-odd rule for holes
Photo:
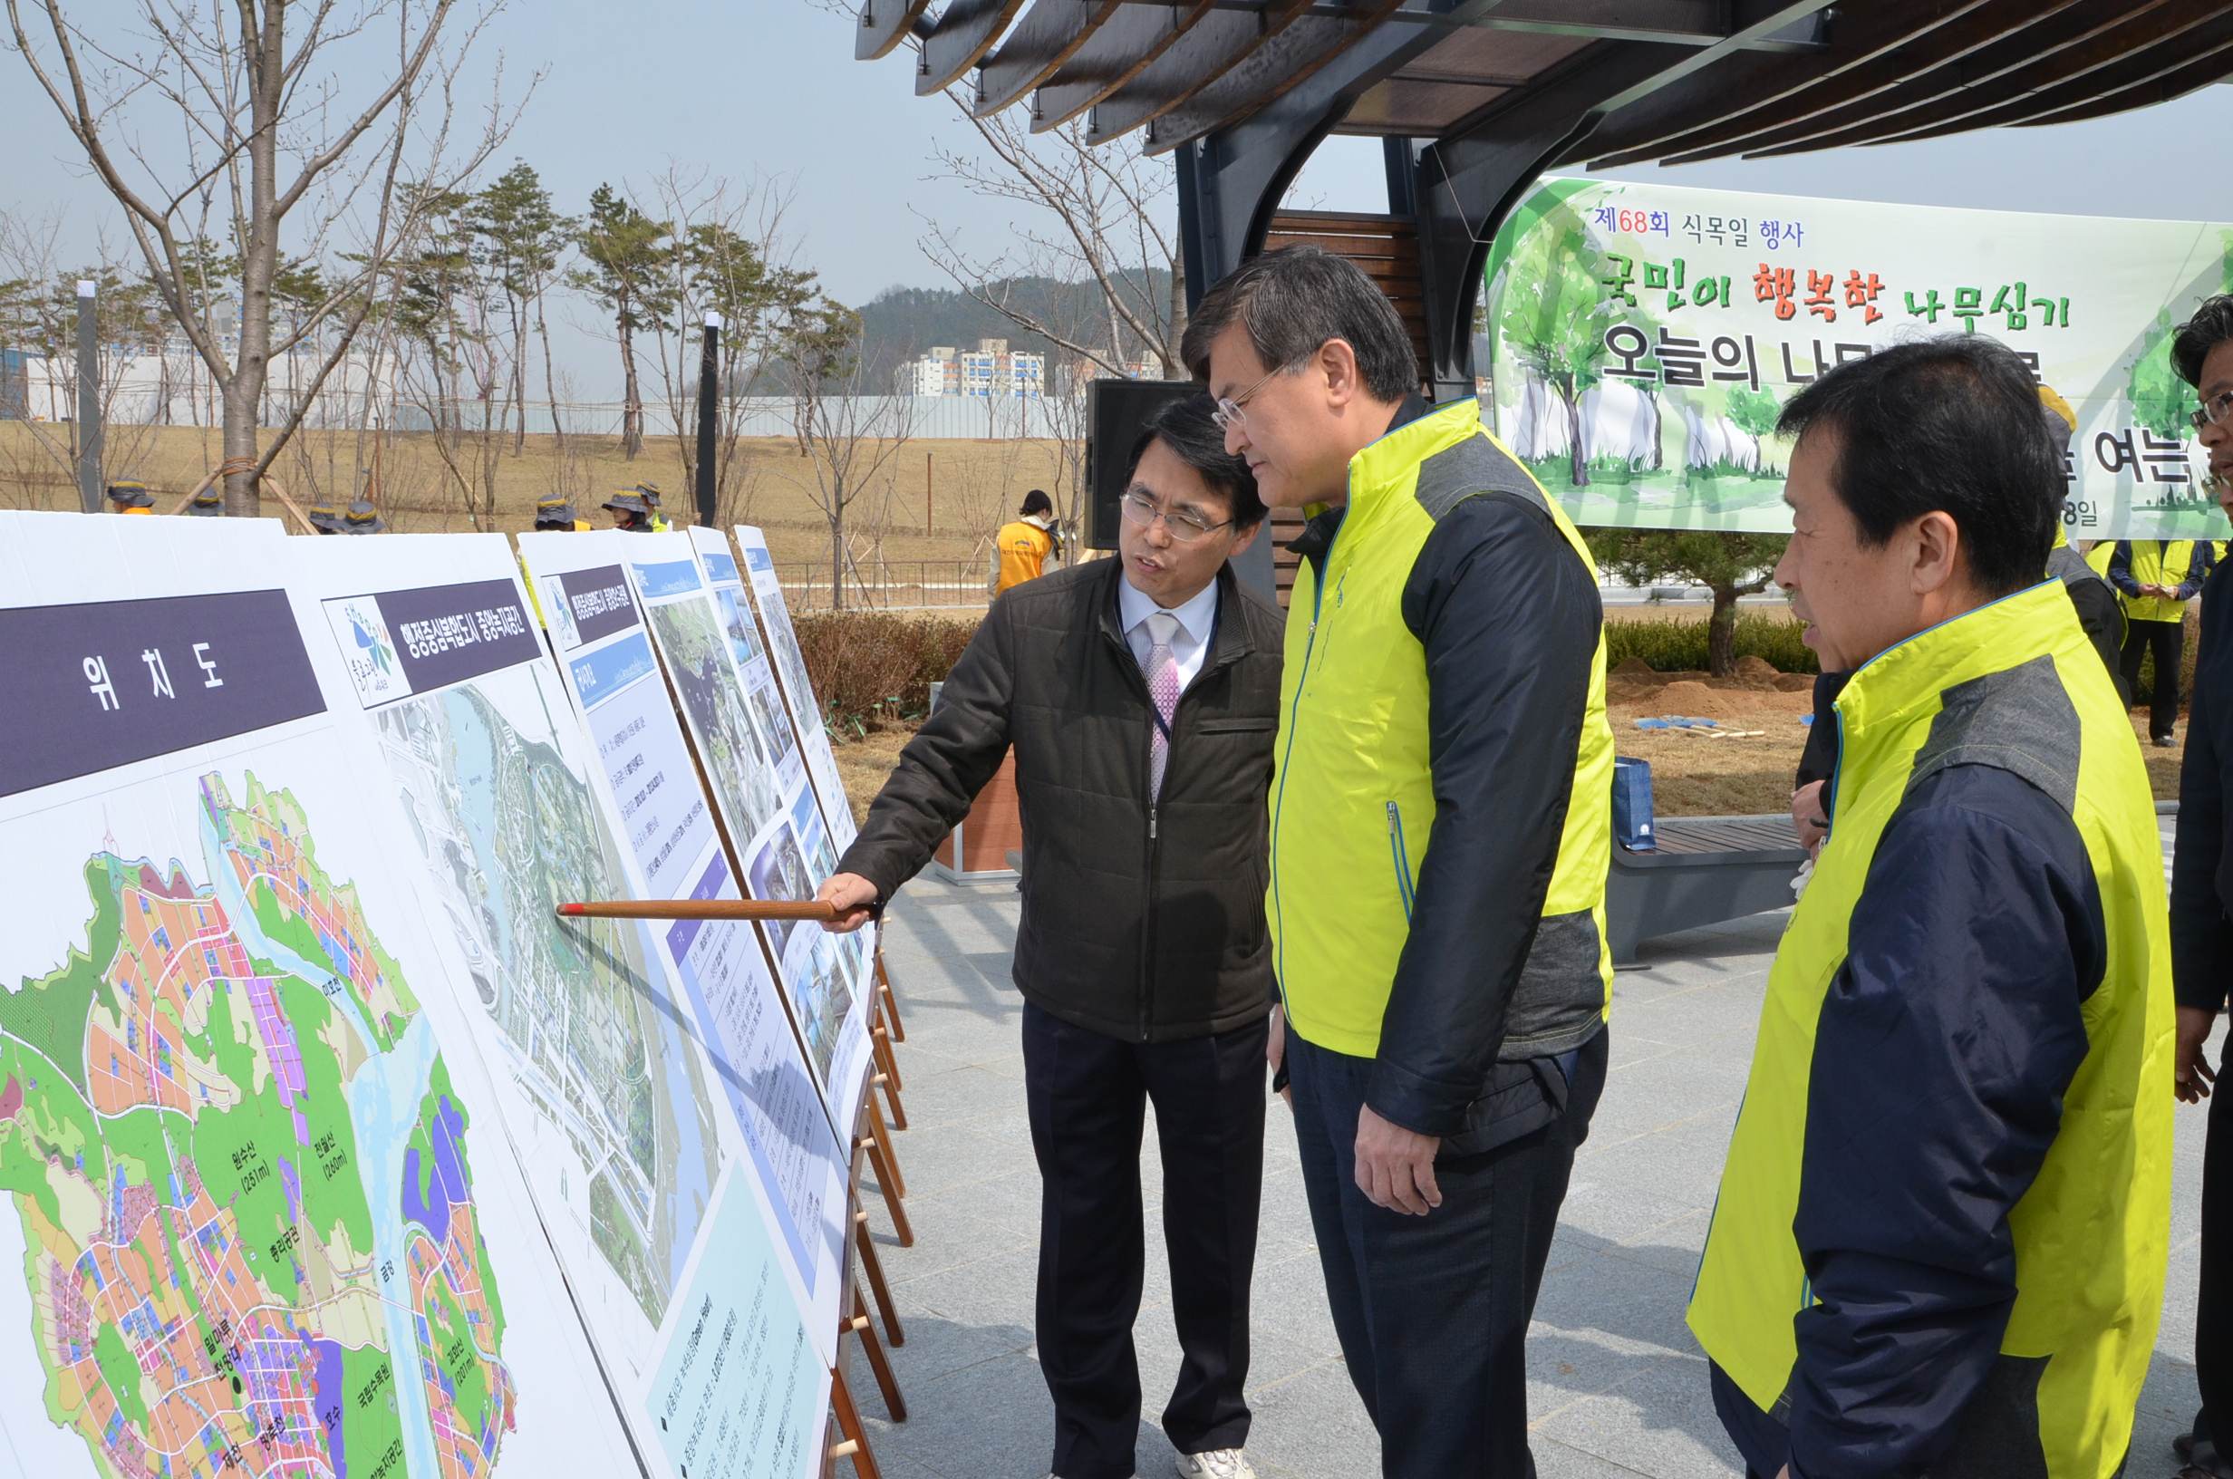
[[[598,1256],[657,1327],[719,1180],[712,1099],[641,927],[554,918],[560,900],[625,898],[625,869],[587,782],[507,710],[545,735],[572,724],[523,666],[380,708],[380,748],[433,923],[464,954],[511,1084],[569,1144],[556,1191],[587,1197]]]

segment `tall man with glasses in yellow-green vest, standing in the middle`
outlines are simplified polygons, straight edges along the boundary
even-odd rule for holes
[[[1349,1378],[1382,1472],[1525,1479],[1527,1320],[1606,1084],[1597,570],[1472,395],[1418,395],[1355,264],[1255,257],[1181,353],[1264,503],[1326,505],[1291,545],[1268,1055]]]

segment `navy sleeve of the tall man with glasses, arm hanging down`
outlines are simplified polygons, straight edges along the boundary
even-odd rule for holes
[[[1456,1135],[1503,1048],[1559,862],[1603,608],[1543,509],[1476,494],[1427,536],[1402,614],[1427,648],[1436,818],[1367,1104]]]

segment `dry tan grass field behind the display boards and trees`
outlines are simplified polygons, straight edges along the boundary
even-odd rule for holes
[[[639,480],[665,489],[670,514],[690,505],[690,480],[672,438],[652,438],[630,460],[616,436],[529,436],[514,454],[500,438],[482,456],[444,447],[427,431],[301,431],[272,467],[272,476],[301,503],[368,496],[400,532],[507,529],[534,525],[536,498],[565,494],[574,512],[596,525],[596,505]],[[777,561],[828,561],[831,536],[815,505],[815,462],[797,442],[753,438],[737,442],[741,467],[730,474],[721,523],[757,523],[768,532]],[[76,507],[69,471],[69,427],[0,422],[0,507]],[[138,478],[167,509],[223,460],[221,438],[205,427],[109,427],[109,478]],[[860,462],[873,460],[864,451]],[[884,458],[866,492],[849,507],[853,559],[976,561],[983,563],[994,529],[1014,518],[1023,494],[1054,492],[1061,451],[1027,440],[909,440]],[[929,489],[929,496],[924,496]],[[482,514],[493,503],[493,516]],[[266,514],[281,514],[266,500]],[[927,523],[929,518],[929,523]]]

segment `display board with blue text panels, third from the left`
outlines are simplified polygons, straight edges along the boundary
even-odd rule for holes
[[[674,693],[690,710],[721,811],[764,807],[777,789],[764,742],[737,702],[712,605],[681,534],[523,536],[523,561],[540,590],[563,681],[598,746],[594,784],[625,827],[643,878],[643,898],[741,898],[699,784],[690,742],[661,681],[652,637],[672,659]],[[657,603],[636,603],[627,565],[639,552]],[[706,735],[719,735],[708,742]],[[755,744],[761,746],[755,751]],[[723,773],[759,764],[761,773]],[[750,815],[750,811],[744,811]],[[612,896],[612,894],[603,894]],[[601,898],[601,894],[581,894]],[[732,1110],[744,1148],[770,1193],[775,1233],[790,1253],[813,1327],[831,1332],[844,1280],[844,1202],[851,1160],[849,1119],[833,1126],[820,1084],[806,1068],[790,1014],[768,974],[759,932],[741,920],[677,920],[650,932],[661,967],[679,985],[710,1055],[715,1092]],[[853,1086],[857,1095],[857,1081]]]

